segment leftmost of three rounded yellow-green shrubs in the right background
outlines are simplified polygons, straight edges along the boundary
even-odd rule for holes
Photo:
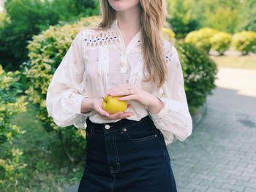
[[[209,53],[211,50],[211,37],[217,33],[218,31],[213,28],[201,28],[198,31],[192,31],[187,34],[185,42],[204,50],[206,53]]]

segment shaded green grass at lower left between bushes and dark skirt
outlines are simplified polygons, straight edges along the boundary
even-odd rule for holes
[[[63,191],[67,185],[78,183],[83,174],[83,162],[72,164],[69,161],[56,134],[45,131],[35,119],[36,112],[29,104],[27,112],[12,120],[26,131],[12,147],[23,150],[23,162],[28,164],[13,191]]]

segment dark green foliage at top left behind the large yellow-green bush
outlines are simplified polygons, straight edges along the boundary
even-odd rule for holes
[[[34,34],[60,20],[73,22],[98,13],[94,0],[7,0],[5,9],[7,19],[0,28],[0,61],[6,70],[17,70],[29,59],[26,46]]]

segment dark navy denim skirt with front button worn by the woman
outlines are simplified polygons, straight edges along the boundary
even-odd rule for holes
[[[86,166],[78,192],[176,192],[165,140],[153,121],[86,121]]]

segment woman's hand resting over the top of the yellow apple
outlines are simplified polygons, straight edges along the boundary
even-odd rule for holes
[[[158,113],[164,107],[162,101],[156,96],[131,84],[118,85],[115,88],[110,88],[106,94],[110,96],[123,96],[118,99],[120,101],[138,101],[140,104],[147,106],[151,113]]]

